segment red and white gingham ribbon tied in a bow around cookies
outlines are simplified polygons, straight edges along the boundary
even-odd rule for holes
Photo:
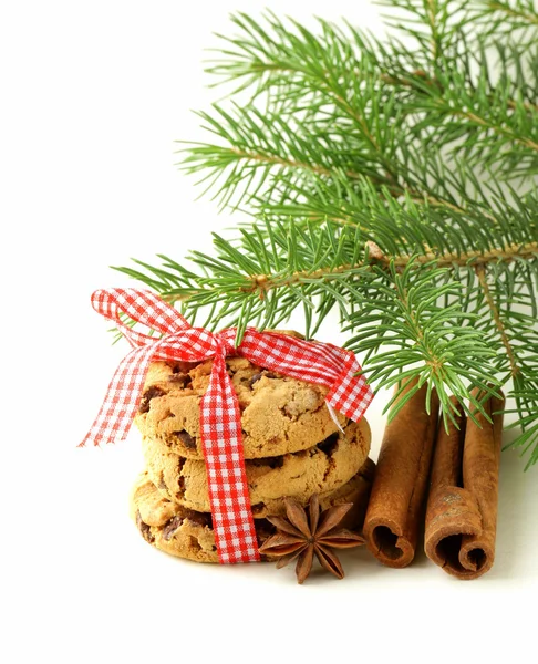
[[[124,439],[138,409],[149,363],[156,360],[201,362],[214,359],[209,387],[201,398],[200,430],[206,461],[215,539],[220,562],[252,562],[259,552],[250,510],[237,396],[226,371],[227,355],[241,355],[254,364],[329,387],[328,403],[359,421],[373,394],[353,353],[328,343],[262,333],[247,328],[234,347],[236,329],[214,334],[192,328],[183,315],[151,291],[95,291],[92,304],[112,320],[133,350],[117,367],[101,411],[81,445]],[[121,313],[161,332],[149,336],[123,323]]]

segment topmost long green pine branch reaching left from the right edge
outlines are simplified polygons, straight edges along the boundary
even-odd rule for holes
[[[403,1],[400,4],[405,8],[408,4],[417,4],[417,10],[424,4],[430,7],[427,2],[415,3],[414,0]],[[446,21],[447,8],[452,15],[451,8],[454,3],[436,2],[435,4],[438,14]],[[459,4],[459,1],[456,2],[457,7]],[[426,18],[427,15],[428,11],[426,11]],[[462,24],[466,25],[468,21],[467,18]],[[442,54],[433,60],[431,58],[424,60],[422,54],[417,56],[412,50],[406,50],[399,44],[391,51],[383,48],[380,42],[368,40],[356,30],[350,30],[350,35],[344,35],[337,28],[321,22],[323,39],[330,41],[331,54],[338,53],[337,66],[340,79],[337,79],[330,75],[330,66],[324,65],[327,44],[323,58],[320,55],[323,52],[323,44],[317,35],[302,28],[299,34],[296,34],[282,22],[271,18],[270,27],[281,37],[282,42],[270,40],[263,31],[261,34],[265,35],[266,42],[260,42],[262,37],[255,31],[251,19],[247,21],[244,14],[240,14],[236,22],[245,32],[244,41],[232,40],[236,49],[234,54],[240,60],[240,66],[237,66],[237,61],[229,64],[225,61],[218,66],[210,68],[209,71],[225,79],[230,75],[230,72],[236,77],[247,79],[248,84],[257,84],[256,94],[267,93],[277,106],[278,104],[283,106],[288,104],[289,106],[290,102],[294,102],[294,106],[288,108],[288,111],[291,108],[289,113],[291,117],[308,103],[312,105],[322,103],[323,115],[330,116],[332,121],[334,114],[328,107],[328,103],[334,103],[338,110],[348,114],[352,121],[359,118],[359,127],[363,129],[363,137],[366,137],[366,142],[370,141],[370,145],[366,147],[371,149],[371,156],[375,157],[377,162],[384,159],[392,178],[395,175],[394,168],[391,167],[393,155],[384,154],[383,146],[372,141],[374,128],[368,126],[368,106],[364,104],[364,100],[376,100],[375,106],[380,115],[374,114],[373,117],[377,120],[383,118],[382,114],[385,107],[390,110],[397,107],[396,101],[402,101],[404,110],[402,116],[407,120],[417,114],[427,114],[426,121],[407,127],[415,138],[417,132],[423,132],[432,122],[435,123],[437,129],[442,129],[442,135],[438,135],[437,139],[442,139],[444,144],[453,142],[458,135],[462,137],[462,133],[465,132],[467,143],[470,139],[470,145],[466,145],[465,148],[466,157],[472,155],[473,149],[482,155],[485,145],[493,146],[494,149],[487,164],[494,166],[498,163],[499,167],[504,168],[505,175],[513,173],[511,167],[517,158],[528,162],[527,168],[530,172],[536,168],[538,146],[536,104],[530,100],[519,98],[520,93],[529,87],[527,96],[536,100],[538,87],[535,65],[536,44],[530,51],[519,53],[523,61],[529,61],[532,82],[527,86],[521,85],[521,72],[513,71],[514,68],[510,66],[510,59],[507,55],[507,45],[509,46],[508,52],[510,52],[510,48],[516,48],[515,44],[511,46],[511,42],[503,46],[496,44],[501,71],[497,74],[498,80],[494,84],[486,58],[487,40],[468,44],[468,35],[463,31],[455,30],[452,23],[449,30],[445,28],[444,31],[436,33],[436,39],[441,39],[442,33],[449,35],[447,38],[449,40],[448,48],[445,44]],[[350,38],[353,40],[352,48],[350,48]],[[346,44],[346,49],[343,44]],[[344,58],[346,58],[345,62],[343,62]],[[476,68],[478,68],[478,72],[473,73]],[[430,73],[426,73],[424,69]],[[393,86],[399,81],[404,81],[404,90],[402,91],[399,85],[395,91],[386,90],[386,81],[390,81]],[[247,82],[244,85],[247,85]],[[413,92],[411,96],[410,90]],[[276,97],[271,96],[273,94]],[[309,94],[312,95],[312,98],[309,98]],[[322,95],[322,102],[317,101],[320,95]],[[359,108],[361,108],[360,112]],[[278,111],[281,113],[280,107]],[[248,116],[249,108],[244,108],[244,113]],[[529,113],[531,115],[527,116]],[[319,122],[320,115],[318,114],[317,122]],[[446,118],[454,118],[457,122],[445,124]],[[465,120],[464,124],[461,122],[462,120]],[[425,122],[427,124],[424,124]],[[345,129],[348,132],[350,127],[345,127]],[[500,143],[492,142],[492,134],[499,136],[503,141]],[[406,143],[408,136],[405,125],[400,127],[400,137],[403,143]],[[425,139],[430,141],[428,132],[426,132]],[[507,143],[520,146],[523,152],[505,154],[503,147],[506,147]]]

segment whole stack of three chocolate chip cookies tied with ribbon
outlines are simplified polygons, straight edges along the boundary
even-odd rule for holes
[[[241,412],[252,516],[261,544],[284,513],[284,497],[307,505],[318,494],[323,509],[353,502],[345,527],[362,527],[373,474],[370,427],[337,414],[327,388],[226,360]],[[135,423],[143,435],[146,470],[132,495],[132,515],[158,549],[199,562],[218,562],[204,464],[199,408],[213,361],[151,365]]]

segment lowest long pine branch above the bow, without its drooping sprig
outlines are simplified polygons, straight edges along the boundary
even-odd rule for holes
[[[405,273],[407,279],[411,279],[414,273],[425,270],[425,283],[433,293],[432,302],[436,302],[444,293],[443,289],[437,290],[433,288],[433,284],[441,277],[446,279],[449,271],[447,268],[437,266],[435,268],[437,277],[434,278],[428,255],[389,259],[375,245],[364,245],[361,234],[356,229],[342,229],[327,225],[322,228],[310,226],[299,230],[298,226],[291,222],[283,226],[267,225],[265,230],[269,242],[266,241],[266,235],[255,228],[254,231],[242,231],[239,247],[226,241],[220,236],[215,236],[217,258],[200,253],[192,256],[195,263],[209,271],[205,276],[199,274],[195,278],[195,288],[193,288],[193,271],[187,271],[183,266],[164,259],[162,273],[166,279],[163,279],[158,290],[168,301],[180,299],[186,307],[187,315],[198,311],[201,307],[218,301],[226,292],[228,313],[232,313],[231,320],[227,322],[234,322],[239,328],[244,328],[255,317],[260,326],[273,326],[280,322],[281,309],[276,308],[276,304],[278,305],[282,298],[281,291],[287,293],[287,307],[291,300],[294,300],[297,305],[306,304],[310,310],[313,307],[311,300],[314,297],[321,297],[315,312],[318,317],[318,320],[314,321],[315,328],[334,304],[340,307],[342,319],[348,321],[352,320],[354,308],[359,307],[361,324],[364,324],[365,308],[372,307],[371,302],[377,305],[380,292],[386,294],[384,283],[386,274],[391,276],[393,282],[397,282],[401,273]],[[536,247],[525,250],[536,250]],[[520,258],[520,250],[508,248],[504,253],[496,251],[489,256],[461,256],[455,261],[448,261],[448,257],[444,256],[438,259],[438,262],[452,267],[456,263],[459,269],[465,267],[465,269],[472,270],[475,266],[474,261],[478,268],[483,269],[487,263],[498,264],[501,261],[510,263],[516,258]],[[298,269],[300,267],[302,269]],[[130,269],[121,268],[121,270],[132,274]],[[187,287],[182,283],[184,276],[189,281]],[[138,273],[137,278],[144,279],[142,273]],[[149,276],[149,283],[155,288],[156,281],[153,276]],[[449,288],[444,287],[445,290],[454,293],[454,287],[448,286]],[[364,289],[368,293],[364,292]],[[271,298],[270,291],[280,292],[278,297]],[[372,297],[371,293],[374,292],[375,295]],[[307,301],[304,301],[306,293],[309,295]],[[232,300],[235,307],[231,304]],[[454,307],[453,303],[451,307],[439,310],[449,312],[453,322],[454,317],[457,319],[459,315],[454,312]],[[248,317],[245,315],[247,310]],[[468,314],[465,315],[468,317]],[[312,321],[311,313],[309,319]],[[220,325],[223,320],[224,317],[218,315],[213,321],[213,326]],[[380,328],[376,329],[379,332]],[[364,332],[369,339],[369,347],[371,344],[377,343],[377,341],[372,341],[377,338],[371,336],[370,332],[370,329]],[[465,333],[467,334],[468,330]],[[446,335],[443,334],[443,336]],[[421,339],[421,341],[423,340]],[[382,343],[387,342],[383,341]],[[365,347],[361,346],[360,350],[365,350]],[[379,362],[379,359],[375,361]],[[437,364],[433,362],[433,365]],[[483,377],[486,382],[486,377]]]

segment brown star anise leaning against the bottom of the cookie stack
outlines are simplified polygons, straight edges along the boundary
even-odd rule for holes
[[[310,498],[308,516],[306,509],[292,498],[284,498],[284,505],[287,518],[267,517],[267,520],[277,527],[277,532],[263,542],[260,552],[281,557],[277,569],[297,558],[296,573],[299,583],[309,575],[314,553],[325,570],[343,579],[342,566],[331,549],[349,549],[364,543],[360,535],[338,528],[353,505],[351,502],[337,505],[320,515],[317,494]]]

